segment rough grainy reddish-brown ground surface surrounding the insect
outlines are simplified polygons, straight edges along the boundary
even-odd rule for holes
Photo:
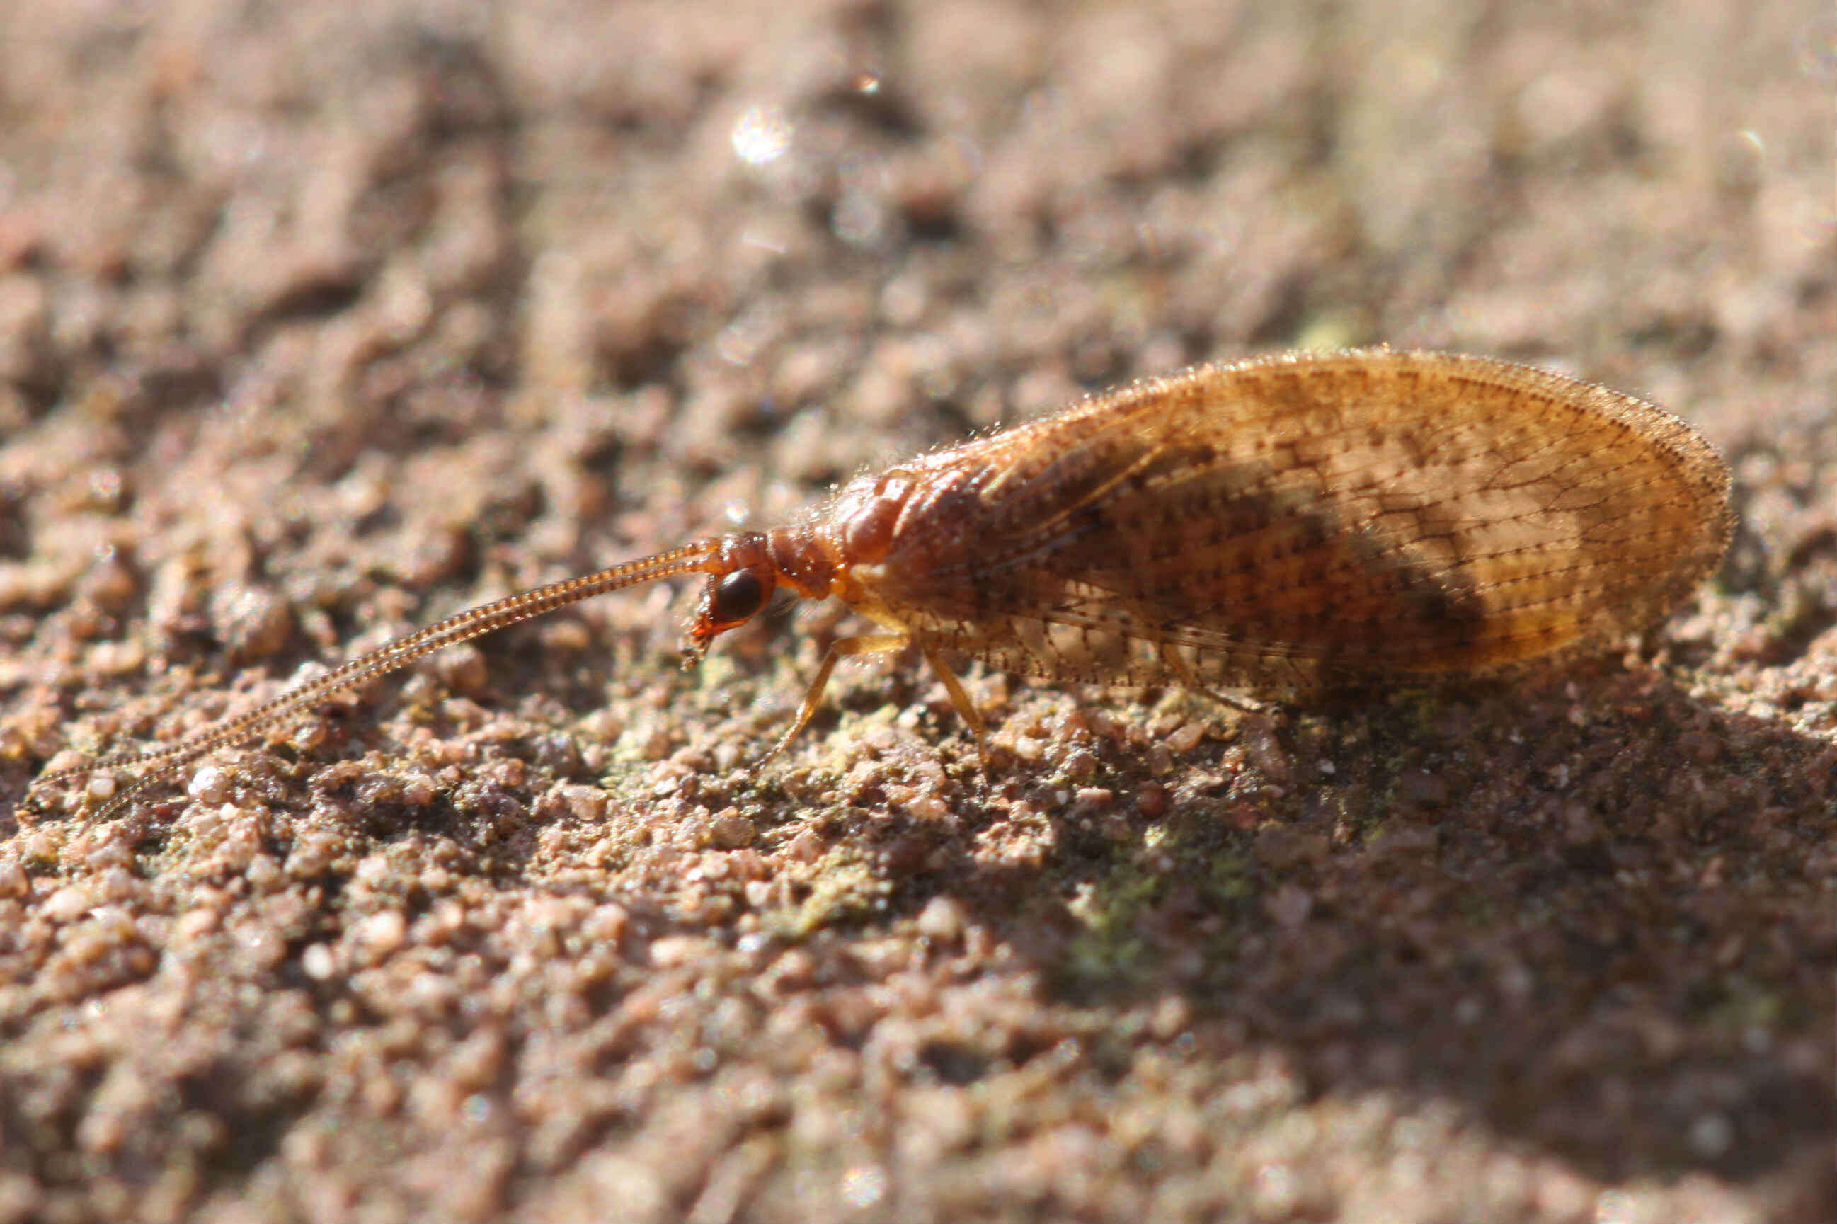
[[[0,1220],[1837,1217],[1822,0],[0,4]],[[1650,641],[1242,720],[456,608],[1192,360],[1644,391]],[[125,781],[125,779],[123,779]]]

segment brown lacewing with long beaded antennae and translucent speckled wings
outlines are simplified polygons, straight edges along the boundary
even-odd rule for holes
[[[579,599],[709,575],[700,660],[777,588],[880,627],[823,656],[917,647],[1058,682],[1308,700],[1512,673],[1646,629],[1721,559],[1729,469],[1688,425],[1506,362],[1389,349],[1200,366],[860,476],[801,520],[685,544],[459,612],[169,748],[140,781],[327,697]],[[1225,698],[1229,700],[1229,698]]]

